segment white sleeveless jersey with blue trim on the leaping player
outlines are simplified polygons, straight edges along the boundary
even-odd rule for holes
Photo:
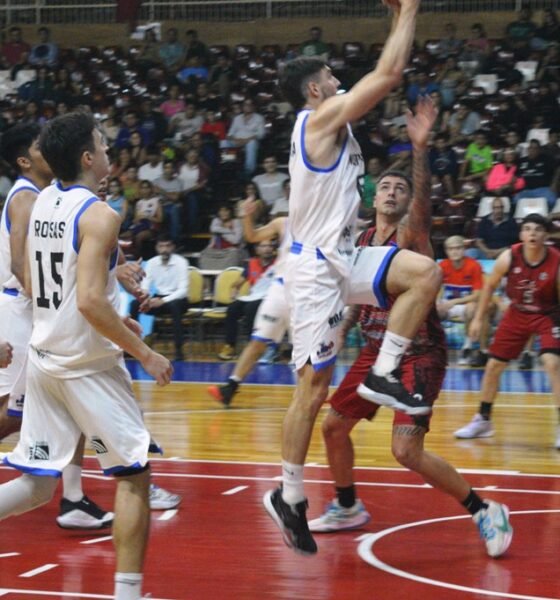
[[[290,230],[295,242],[318,249],[344,275],[350,272],[363,173],[362,151],[347,125],[339,156],[330,167],[313,166],[305,150],[305,126],[312,111],[298,114],[290,151]]]

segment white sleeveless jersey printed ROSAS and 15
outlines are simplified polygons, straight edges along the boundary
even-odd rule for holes
[[[99,334],[78,311],[77,262],[80,217],[100,200],[82,186],[55,183],[37,197],[29,222],[33,333],[30,360],[41,370],[64,379],[112,368],[121,350]],[[111,257],[107,295],[118,309]]]

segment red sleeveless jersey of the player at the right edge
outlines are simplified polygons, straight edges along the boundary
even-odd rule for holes
[[[560,252],[546,248],[544,259],[530,265],[523,256],[523,244],[511,247],[511,265],[507,274],[506,294],[517,310],[549,314],[557,312]]]

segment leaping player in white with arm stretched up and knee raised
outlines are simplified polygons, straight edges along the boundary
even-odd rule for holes
[[[375,70],[347,94],[337,95],[339,81],[315,58],[289,62],[280,76],[286,99],[303,109],[292,133],[289,219],[294,242],[285,268],[298,381],[282,431],[283,484],[267,492],[263,502],[286,544],[302,554],[317,552],[306,520],[303,464],[317,412],[328,395],[347,301],[384,305],[387,294],[398,296],[379,359],[361,391],[408,414],[430,411],[420,394],[405,389],[396,370],[439,289],[437,265],[394,247],[359,249],[351,260],[363,159],[349,123],[399,83],[419,0],[387,4],[395,12],[392,33]],[[361,295],[354,297],[348,294],[352,262],[357,275],[367,275],[357,290]]]

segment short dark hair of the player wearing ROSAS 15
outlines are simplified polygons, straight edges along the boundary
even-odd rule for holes
[[[83,153],[95,150],[96,128],[88,111],[67,113],[47,122],[39,137],[39,148],[55,177],[62,181],[78,179]]]

